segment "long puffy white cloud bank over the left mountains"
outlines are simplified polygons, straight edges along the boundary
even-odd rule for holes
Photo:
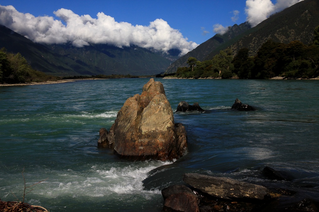
[[[66,25],[54,17],[34,17],[30,13],[20,13],[11,5],[0,5],[0,24],[34,42],[46,44],[71,42],[77,47],[89,43],[113,44],[118,47],[137,45],[165,52],[179,49],[181,55],[198,46],[162,19],[156,19],[148,26],[133,26],[127,22],[116,22],[113,17],[103,12],[99,12],[97,18],[89,15],[79,16],[63,8],[54,11],[54,14]]]

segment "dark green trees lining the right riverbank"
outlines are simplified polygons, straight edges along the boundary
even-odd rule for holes
[[[272,40],[265,42],[256,56],[249,56],[249,49],[242,48],[236,55],[231,49],[222,50],[211,60],[187,60],[189,67],[179,67],[178,78],[224,78],[224,79],[289,79],[315,78],[319,76],[319,26],[314,30],[313,43],[300,41],[289,44]]]

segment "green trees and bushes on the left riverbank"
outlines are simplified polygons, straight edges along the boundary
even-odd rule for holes
[[[33,70],[20,53],[13,54],[0,49],[0,83],[30,83],[56,81],[58,77]]]

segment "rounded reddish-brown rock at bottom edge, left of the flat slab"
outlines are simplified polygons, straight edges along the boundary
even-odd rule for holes
[[[198,196],[185,185],[173,185],[162,190],[164,211],[199,212]]]

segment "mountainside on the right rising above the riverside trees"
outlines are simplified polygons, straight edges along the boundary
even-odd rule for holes
[[[250,50],[250,56],[253,56],[269,39],[285,44],[294,40],[309,44],[318,25],[319,1],[304,0],[272,15],[253,28],[250,28],[248,23],[235,24],[224,35],[216,34],[172,63],[166,73],[173,73],[178,67],[187,66],[186,61],[189,57],[195,57],[200,61],[209,60],[226,48],[231,48],[236,54],[241,48],[246,47]]]

